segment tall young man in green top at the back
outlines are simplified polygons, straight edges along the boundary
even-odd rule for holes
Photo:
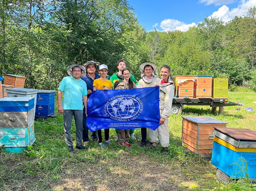
[[[121,81],[124,79],[124,76],[122,76],[122,71],[124,68],[126,68],[126,62],[125,60],[123,59],[120,59],[118,62],[117,62],[117,68],[118,68],[118,72],[116,73],[113,73],[113,75],[110,77],[110,81],[112,82],[113,84],[113,89],[115,89],[115,87],[117,86],[117,81]],[[134,75],[131,74],[131,81],[134,82],[135,84],[137,83]],[[115,83],[116,83],[116,86],[115,86]],[[116,133],[117,133],[117,129],[116,129]],[[135,136],[134,136],[134,129],[130,129],[130,137],[132,139],[135,139]]]

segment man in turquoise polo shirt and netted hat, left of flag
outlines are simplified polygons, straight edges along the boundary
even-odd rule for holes
[[[74,152],[73,142],[71,138],[71,122],[74,116],[76,124],[76,148],[85,149],[82,145],[83,134],[83,102],[84,107],[87,107],[87,87],[86,83],[80,78],[86,75],[86,70],[83,66],[74,64],[68,67],[68,77],[62,79],[58,88],[58,112],[63,114],[64,120],[64,135],[69,151]],[[61,104],[61,97],[63,100]],[[85,110],[87,115],[87,111]]]

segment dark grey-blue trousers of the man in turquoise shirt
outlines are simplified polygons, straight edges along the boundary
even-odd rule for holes
[[[83,111],[82,110],[72,110],[65,109],[63,113],[64,120],[64,136],[65,141],[68,146],[73,146],[71,138],[71,123],[74,116],[76,124],[76,140],[77,145],[82,145],[82,134],[83,134]]]

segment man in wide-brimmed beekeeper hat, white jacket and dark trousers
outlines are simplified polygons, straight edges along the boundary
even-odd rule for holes
[[[154,87],[159,83],[157,67],[152,63],[143,63],[140,65],[141,79],[137,84],[137,88]],[[144,147],[147,144],[147,128],[141,128],[141,145]]]

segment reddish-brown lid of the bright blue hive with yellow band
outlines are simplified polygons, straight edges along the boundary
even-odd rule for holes
[[[253,131],[251,129],[235,129],[235,128],[223,128],[223,127],[213,127],[213,128],[236,140],[256,141],[256,131]]]

